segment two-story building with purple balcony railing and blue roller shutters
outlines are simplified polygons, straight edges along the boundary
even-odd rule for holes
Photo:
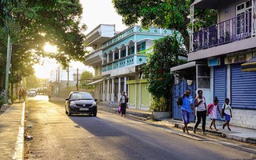
[[[186,66],[208,66],[194,67],[196,89],[206,91],[207,103],[218,97],[220,109],[230,98],[231,124],[256,129],[256,1],[195,0],[190,10],[192,27],[195,9],[218,10],[216,24],[191,31]],[[186,67],[171,70],[178,73]]]

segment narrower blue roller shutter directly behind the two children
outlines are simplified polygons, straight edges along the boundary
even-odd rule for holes
[[[218,98],[219,110],[222,110],[226,99],[226,66],[214,66],[214,98],[215,97]],[[221,115],[218,114],[218,111],[217,119],[221,119]]]

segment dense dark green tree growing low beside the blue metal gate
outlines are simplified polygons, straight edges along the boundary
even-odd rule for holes
[[[185,63],[178,59],[178,56],[182,54],[184,55],[185,51],[182,50],[182,42],[176,34],[155,40],[153,51],[147,53],[147,62],[142,69],[149,82],[148,90],[153,95],[154,102],[166,102],[166,106],[169,106],[170,90],[174,82],[170,67]],[[154,110],[159,111],[158,107],[162,106],[157,104],[153,106]]]

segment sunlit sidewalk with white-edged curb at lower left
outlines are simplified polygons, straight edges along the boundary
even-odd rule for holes
[[[14,103],[0,115],[0,159],[23,159],[23,104]]]

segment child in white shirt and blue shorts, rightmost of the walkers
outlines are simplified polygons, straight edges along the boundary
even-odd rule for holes
[[[227,126],[228,130],[230,129],[230,119],[232,118],[232,108],[230,106],[230,99],[225,99],[225,104],[222,106],[222,117],[225,116],[226,122],[223,124],[222,129],[225,129],[225,126]]]

